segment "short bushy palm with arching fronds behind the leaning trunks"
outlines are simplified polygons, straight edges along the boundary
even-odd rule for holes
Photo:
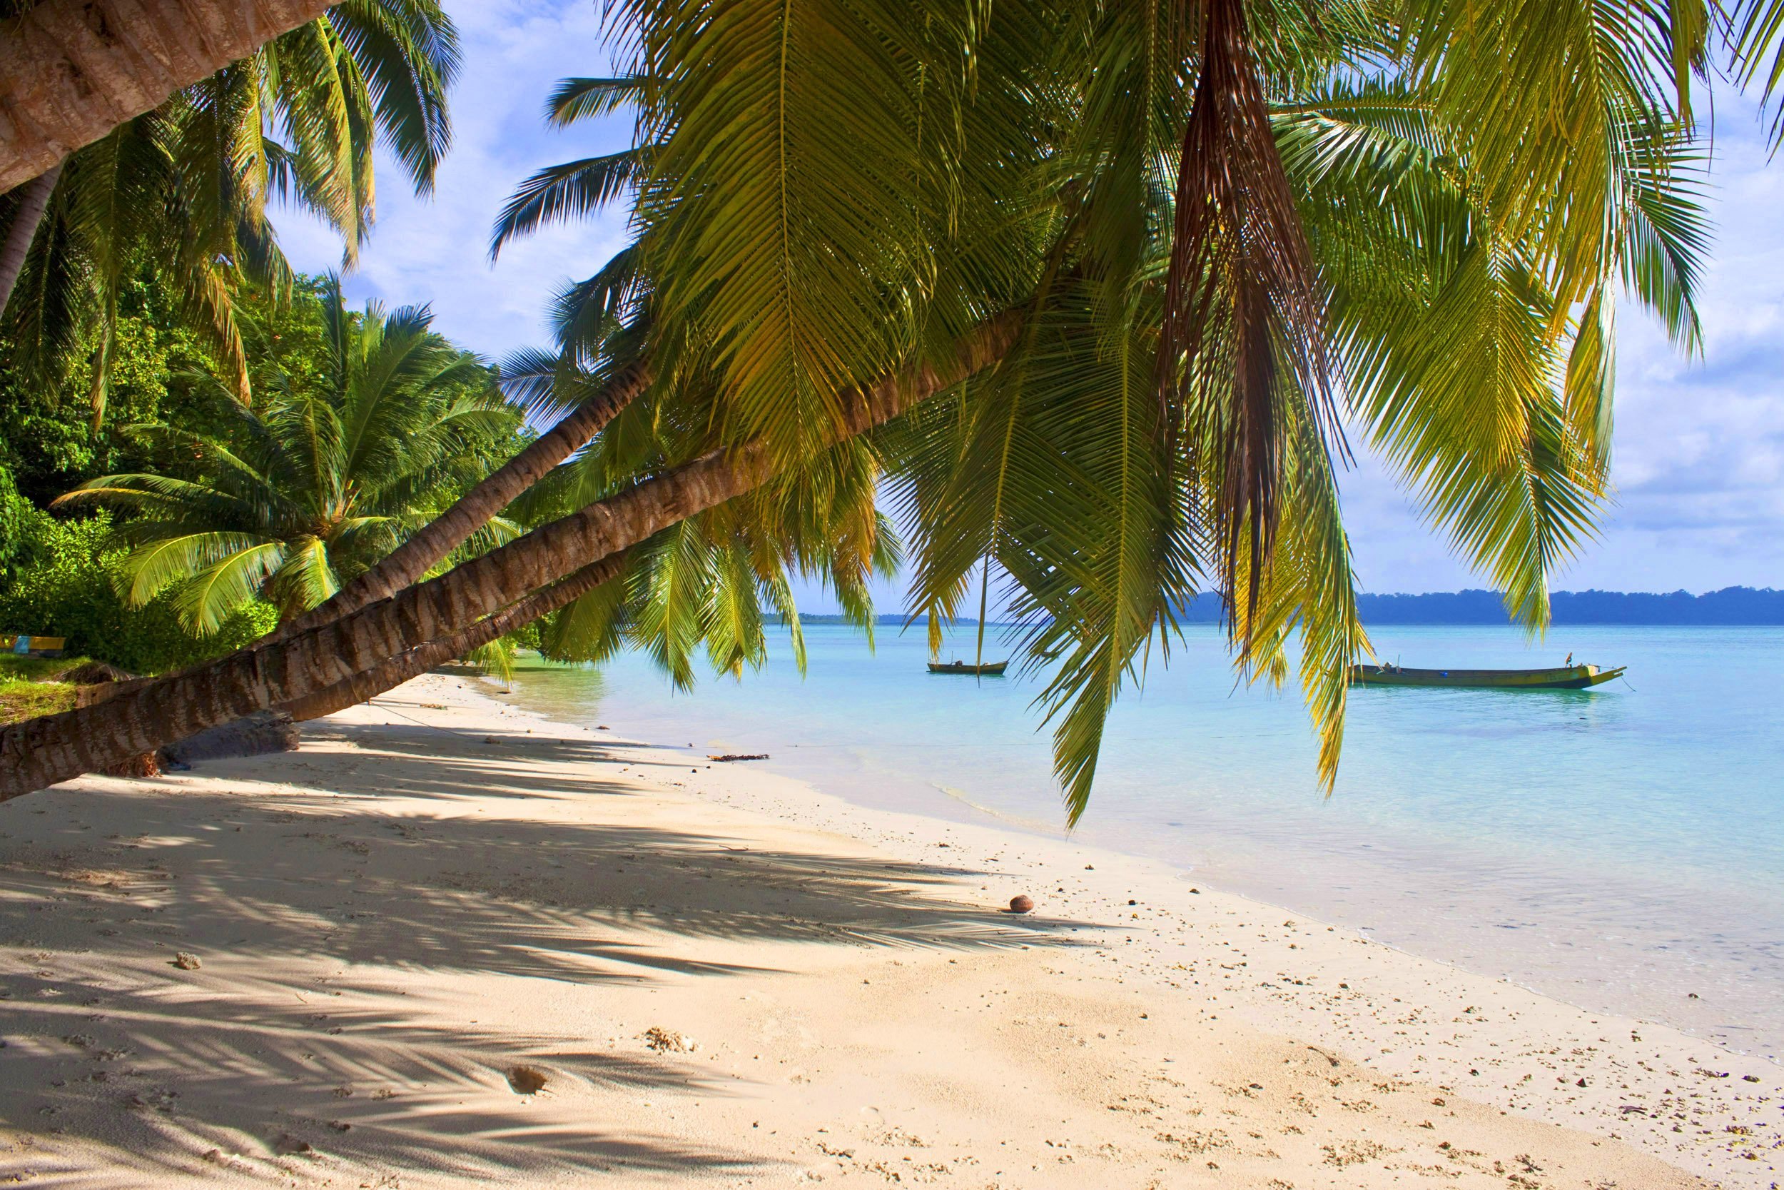
[[[330,278],[321,294],[326,387],[287,382],[241,407],[225,437],[178,426],[137,432],[189,459],[189,476],[107,475],[57,505],[121,514],[136,546],[125,558],[132,605],[178,587],[175,605],[196,635],[244,599],[266,598],[280,619],[305,612],[366,571],[439,510],[439,492],[480,475],[519,417],[491,371],[428,328],[425,309],[348,310]],[[473,546],[512,535],[483,526]]]

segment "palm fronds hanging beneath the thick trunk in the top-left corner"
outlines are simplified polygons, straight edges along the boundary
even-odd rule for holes
[[[319,214],[351,264],[373,219],[373,139],[430,189],[451,136],[457,64],[457,34],[435,0],[350,0],[59,162],[25,187],[7,227],[5,257],[20,268],[0,273],[0,309],[20,346],[14,364],[55,387],[84,360],[96,426],[123,275],[153,268],[246,400],[234,289],[291,285],[268,202]]]

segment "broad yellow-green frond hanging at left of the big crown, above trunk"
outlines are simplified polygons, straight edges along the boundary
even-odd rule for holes
[[[637,205],[658,318],[703,328],[728,434],[810,457],[840,425],[835,394],[910,343],[922,23],[887,0],[621,7],[642,30],[630,73],[657,80],[646,132],[674,121]]]

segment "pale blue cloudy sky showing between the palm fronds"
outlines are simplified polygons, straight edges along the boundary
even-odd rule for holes
[[[630,127],[553,132],[541,118],[557,79],[608,66],[594,0],[448,0],[448,11],[466,50],[453,152],[432,200],[409,194],[396,168],[380,169],[378,225],[346,287],[357,300],[432,303],[442,332],[501,357],[546,341],[548,296],[624,243],[624,212],[548,230],[491,266],[496,212],[533,169],[621,148]],[[1618,503],[1559,587],[1784,587],[1784,161],[1768,164],[1754,107],[1729,95],[1716,96],[1711,180],[1704,355],[1682,359],[1645,314],[1622,305]],[[337,262],[339,244],[305,218],[287,214],[280,230],[298,268]],[[1368,457],[1343,478],[1343,501],[1365,589],[1484,585]],[[888,589],[881,608],[897,610],[901,594]],[[828,610],[815,592],[808,603]]]

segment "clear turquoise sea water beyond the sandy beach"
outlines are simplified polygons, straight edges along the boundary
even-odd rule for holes
[[[1609,1012],[1784,1054],[1784,628],[1381,628],[1406,665],[1629,665],[1591,692],[1356,690],[1331,797],[1293,690],[1235,689],[1213,628],[1117,708],[1086,842]],[[987,658],[1004,657],[995,630]],[[676,694],[628,655],[516,698],[847,799],[1063,830],[1020,678],[931,676],[921,632],[806,628]],[[972,657],[970,630],[946,657]]]

